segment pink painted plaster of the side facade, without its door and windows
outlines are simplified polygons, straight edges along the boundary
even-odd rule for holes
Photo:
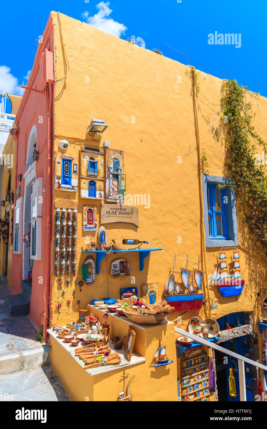
[[[43,42],[39,44],[33,68],[30,73],[30,79],[27,86],[42,91],[41,80],[42,70],[39,67],[39,61],[45,48],[54,53],[54,33],[51,15],[43,33]],[[52,85],[50,88],[52,94]],[[41,314],[48,307],[48,298],[50,293],[50,275],[49,269],[51,259],[51,192],[52,189],[52,140],[51,133],[54,133],[54,123],[51,124],[51,115],[48,111],[48,90],[44,94],[35,91],[25,90],[18,110],[16,123],[19,128],[17,146],[16,146],[16,165],[15,165],[15,188],[21,187],[21,196],[24,203],[25,180],[22,178],[18,182],[18,174],[26,172],[27,149],[30,132],[32,127],[36,126],[36,150],[39,152],[39,158],[36,161],[36,179],[42,178],[42,259],[33,261],[32,272],[32,294],[30,298],[29,317],[36,326],[42,322]],[[54,118],[54,99],[52,101],[52,118]],[[16,201],[14,202],[16,204]],[[14,205],[15,206],[15,205]],[[22,228],[20,239],[23,238]],[[24,245],[24,244],[22,244]],[[23,278],[23,254],[13,254],[12,262],[12,283],[11,289],[14,293],[21,293],[21,280]],[[25,275],[24,275],[25,277]],[[46,300],[46,302],[45,302]]]

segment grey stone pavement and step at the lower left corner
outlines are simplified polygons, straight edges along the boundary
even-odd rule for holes
[[[0,401],[69,401],[36,326],[27,316],[9,316],[4,302],[10,294],[0,282]]]

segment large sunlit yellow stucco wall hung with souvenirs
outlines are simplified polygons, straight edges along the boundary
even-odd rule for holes
[[[55,37],[55,78],[65,75],[63,50],[60,42],[57,15],[52,12]],[[57,302],[62,301],[57,279],[53,277],[52,313],[53,324],[77,320],[77,299],[84,308],[90,299],[118,298],[120,288],[131,287],[131,276],[141,296],[141,284],[157,281],[159,295],[163,296],[165,282],[174,255],[182,265],[189,255],[195,265],[198,255],[203,263],[200,224],[199,169],[196,149],[196,129],[192,101],[192,72],[189,66],[180,64],[153,51],[140,48],[130,42],[111,36],[88,24],[61,15],[63,39],[71,72],[66,82],[55,85],[55,134],[54,151],[59,150],[59,141],[67,139],[68,153],[79,154],[81,145],[102,148],[109,141],[111,148],[124,152],[124,173],[127,177],[127,196],[139,209],[139,228],[131,224],[104,225],[108,241],[117,238],[149,240],[149,247],[162,248],[151,252],[144,261],[144,270],[139,271],[138,254],[125,259],[130,264],[130,278],[112,278],[109,274],[114,255],[107,255],[101,263],[101,271],[95,281],[84,286],[82,292],[76,287],[72,296],[74,278],[66,291],[61,313],[57,314]],[[65,85],[66,84],[66,85]],[[214,138],[212,129],[219,122],[219,103],[222,80],[199,72],[198,118],[201,145],[207,153],[210,175],[227,176],[224,165],[224,146]],[[59,96],[60,94],[60,96]],[[249,97],[249,95],[248,95]],[[72,106],[69,109],[69,106]],[[256,113],[255,128],[267,139],[266,99],[252,99],[252,111]],[[253,115],[252,113],[252,115]],[[109,126],[99,141],[87,133],[92,118],[103,119]],[[261,152],[260,152],[261,153]],[[181,158],[180,158],[181,157]],[[181,159],[181,162],[177,162]],[[81,265],[87,258],[81,254],[86,247],[87,232],[82,231],[82,206],[85,199],[78,194],[55,191],[54,199],[71,196],[78,202],[77,226],[77,275],[81,280]],[[128,199],[128,201],[129,201]],[[138,205],[138,201],[144,203]],[[101,201],[86,200],[97,206],[97,225],[100,224]],[[223,298],[217,287],[207,288],[204,298],[211,296],[218,306],[212,317],[219,318],[236,311],[252,311],[255,332],[256,322],[263,316],[263,296],[256,292],[264,286],[266,278],[264,260],[250,251],[249,233],[242,224],[237,210],[240,266],[245,278],[245,287],[238,297]],[[89,234],[97,237],[97,231]],[[178,237],[181,239],[178,240]],[[179,243],[178,243],[179,241]],[[211,275],[219,248],[207,249],[207,273]],[[230,256],[231,250],[227,250]],[[124,257],[124,256],[123,256]],[[53,247],[54,258],[54,247]],[[94,258],[95,259],[95,258]],[[54,268],[54,267],[53,267]],[[204,281],[205,283],[205,281]],[[68,308],[66,300],[70,299]],[[181,316],[180,327],[186,329],[189,319],[195,314],[171,314],[170,320]],[[208,305],[203,306],[199,316],[209,316]],[[173,332],[173,337],[175,334]],[[261,338],[261,337],[260,337]],[[259,341],[261,343],[261,341]],[[260,344],[261,353],[261,344]]]

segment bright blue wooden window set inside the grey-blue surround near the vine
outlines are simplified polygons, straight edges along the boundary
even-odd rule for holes
[[[225,189],[207,184],[207,205],[210,240],[228,240],[227,204]]]

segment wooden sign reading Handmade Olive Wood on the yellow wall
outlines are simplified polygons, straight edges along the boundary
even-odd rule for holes
[[[138,227],[138,208],[132,205],[101,204],[101,223],[112,224],[114,222],[133,224]]]

